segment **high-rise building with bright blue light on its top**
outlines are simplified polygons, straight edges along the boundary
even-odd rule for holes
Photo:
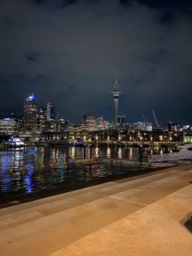
[[[33,94],[24,99],[24,130],[37,129],[37,97]]]

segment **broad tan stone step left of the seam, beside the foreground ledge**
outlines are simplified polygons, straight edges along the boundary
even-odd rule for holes
[[[13,255],[20,246],[20,255],[47,255],[142,207],[144,205],[110,197],[98,199],[3,229],[0,231],[0,248],[6,252],[4,256]]]

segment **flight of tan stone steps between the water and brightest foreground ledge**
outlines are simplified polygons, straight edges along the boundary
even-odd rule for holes
[[[0,249],[4,256],[55,252],[149,207],[151,201],[164,197],[164,190],[168,193],[167,188],[184,187],[191,171],[177,172],[164,170],[7,208],[1,222]]]

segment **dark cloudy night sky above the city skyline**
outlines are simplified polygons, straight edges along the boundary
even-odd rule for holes
[[[55,103],[59,117],[191,124],[192,1],[0,0],[0,114]],[[116,64],[117,63],[117,64]]]

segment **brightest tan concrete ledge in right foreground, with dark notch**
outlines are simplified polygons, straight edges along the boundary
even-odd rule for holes
[[[60,249],[62,255],[192,255],[181,219],[192,209],[192,185]]]

